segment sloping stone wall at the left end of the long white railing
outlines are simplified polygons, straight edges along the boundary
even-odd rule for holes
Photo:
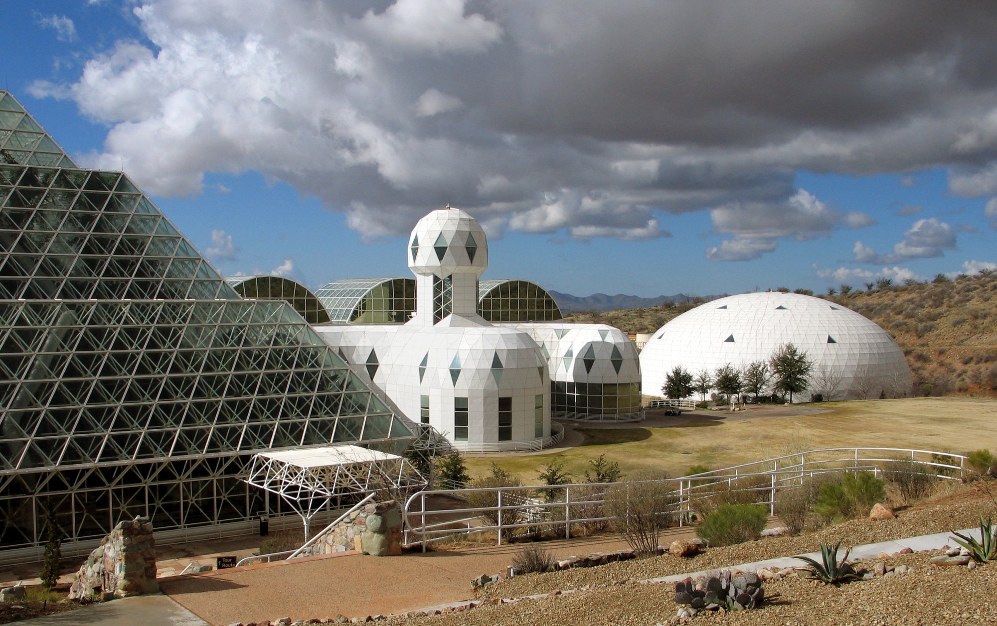
[[[395,500],[370,502],[319,536],[310,554],[359,550],[374,556],[402,553],[402,509]]]

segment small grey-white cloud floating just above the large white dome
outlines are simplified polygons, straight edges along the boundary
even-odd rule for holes
[[[849,211],[841,213],[806,189],[800,189],[785,202],[735,202],[710,211],[715,232],[734,235],[733,240],[711,247],[711,261],[747,261],[776,249],[781,238],[797,240],[826,237],[840,227],[864,228],[875,223],[871,216]]]

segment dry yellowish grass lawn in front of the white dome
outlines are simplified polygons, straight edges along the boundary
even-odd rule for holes
[[[624,473],[664,469],[681,475],[694,465],[717,469],[819,448],[917,448],[952,453],[988,448],[997,452],[997,400],[907,398],[819,406],[824,412],[816,415],[753,418],[749,410],[734,414],[737,419],[730,414],[696,412],[686,414],[690,423],[680,427],[649,428],[647,423],[585,426],[577,429],[585,436],[581,446],[549,455],[468,458],[468,469],[479,475],[496,463],[524,483],[536,484],[539,470],[556,459],[580,482],[589,460],[602,454]]]

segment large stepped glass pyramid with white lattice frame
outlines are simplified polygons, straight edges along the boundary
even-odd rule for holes
[[[292,306],[243,299],[127,175],[78,167],[0,91],[0,549],[40,545],[45,506],[70,541],[140,514],[252,519],[254,454],[401,453],[419,428]]]

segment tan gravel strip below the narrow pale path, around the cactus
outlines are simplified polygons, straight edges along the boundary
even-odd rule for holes
[[[928,564],[930,555],[916,553],[891,557],[886,559],[889,565],[904,563],[917,571],[853,582],[840,588],[820,585],[802,577],[767,581],[767,602],[762,608],[736,613],[703,613],[689,623],[725,626],[997,623],[997,602],[993,594],[997,588],[997,564],[973,571],[965,567],[938,568]],[[678,608],[672,599],[672,589],[671,585],[631,582],[389,623],[393,626],[668,624]]]

